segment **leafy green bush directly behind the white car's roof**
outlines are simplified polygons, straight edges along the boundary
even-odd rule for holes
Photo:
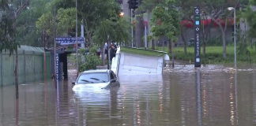
[[[96,55],[96,47],[92,47],[89,51],[89,54],[86,54],[85,49],[81,49],[79,50],[78,55],[78,64],[80,72],[90,69],[96,69],[96,66],[100,64],[100,57]],[[85,62],[81,60],[82,58],[85,58]]]

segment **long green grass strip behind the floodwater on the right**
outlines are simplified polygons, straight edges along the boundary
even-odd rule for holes
[[[252,63],[256,63],[256,51],[255,49],[247,48],[250,51],[250,59]],[[156,50],[163,50],[162,47],[157,47]],[[168,48],[165,47],[168,51]],[[232,64],[235,59],[235,48],[234,46],[227,46],[227,58],[223,57],[223,47],[222,46],[206,46],[205,57],[202,55],[203,48],[201,47],[201,64]],[[187,47],[184,54],[183,47],[175,47],[175,60],[191,61],[194,63],[194,47]],[[168,53],[169,54],[169,53]],[[171,58],[171,54],[169,54]],[[236,61],[238,64],[247,63],[247,54],[236,54]],[[248,57],[248,61],[249,57]]]

